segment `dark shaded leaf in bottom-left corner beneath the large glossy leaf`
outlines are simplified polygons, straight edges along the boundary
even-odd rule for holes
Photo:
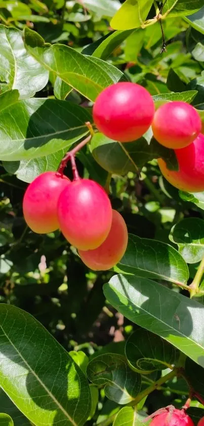
[[[11,416],[15,426],[30,426],[29,420],[18,410],[2,388],[0,388],[0,404],[1,410]]]

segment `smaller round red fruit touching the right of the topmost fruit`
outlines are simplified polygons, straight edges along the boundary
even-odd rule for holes
[[[167,148],[184,148],[201,132],[201,120],[197,111],[185,102],[169,102],[161,105],[152,122],[154,138]]]

